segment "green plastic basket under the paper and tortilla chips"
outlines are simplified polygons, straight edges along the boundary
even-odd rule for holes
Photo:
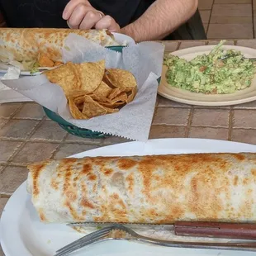
[[[115,50],[117,52],[122,52],[124,47],[126,46],[108,46],[107,48],[110,50]],[[159,83],[160,83],[160,79],[161,78],[159,78],[158,80]],[[101,139],[101,138],[106,138],[110,136],[102,132],[92,131],[88,129],[79,128],[78,126],[73,126],[72,124],[70,124],[68,121],[65,121],[61,116],[59,116],[55,112],[50,111],[50,109],[46,107],[43,107],[43,109],[45,111],[46,116],[48,116],[50,120],[57,122],[61,128],[68,131],[69,134],[71,135],[75,135],[82,138],[90,138],[90,139]]]

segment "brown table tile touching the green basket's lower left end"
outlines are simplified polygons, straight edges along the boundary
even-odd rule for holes
[[[63,140],[67,132],[55,121],[44,121],[43,124],[31,136],[31,140]]]

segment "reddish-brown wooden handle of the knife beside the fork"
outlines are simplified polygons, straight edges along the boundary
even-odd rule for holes
[[[175,235],[228,239],[256,239],[256,224],[177,221]]]

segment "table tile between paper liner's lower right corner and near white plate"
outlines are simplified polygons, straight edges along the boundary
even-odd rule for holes
[[[183,138],[185,134],[185,126],[151,126],[149,139]]]

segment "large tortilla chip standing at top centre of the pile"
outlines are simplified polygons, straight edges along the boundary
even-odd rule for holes
[[[81,81],[81,90],[86,94],[92,93],[102,83],[105,72],[105,60],[99,62],[85,62],[82,64],[74,64],[78,70],[79,79]]]

